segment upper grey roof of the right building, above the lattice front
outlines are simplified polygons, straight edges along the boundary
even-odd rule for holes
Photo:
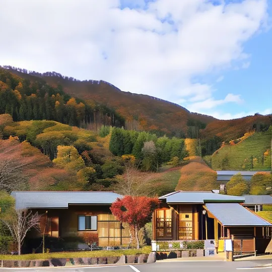
[[[163,195],[167,203],[209,203],[209,202],[244,202],[243,196],[225,195],[212,191],[176,191]]]

